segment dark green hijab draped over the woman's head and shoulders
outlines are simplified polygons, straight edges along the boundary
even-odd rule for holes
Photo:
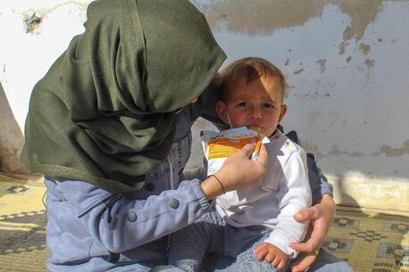
[[[175,111],[225,59],[188,0],[100,0],[34,87],[21,164],[113,193],[142,187],[171,148]]]

